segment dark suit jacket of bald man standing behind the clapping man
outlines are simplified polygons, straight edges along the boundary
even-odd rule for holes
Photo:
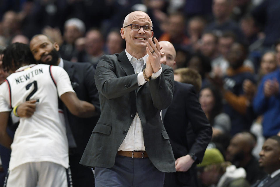
[[[212,128],[198,102],[194,86],[175,81],[173,101],[162,110],[162,118],[175,159],[195,153],[196,162],[201,162],[212,137]],[[195,186],[189,182],[192,181],[190,177],[196,176],[196,164],[188,172],[176,172],[177,180]]]

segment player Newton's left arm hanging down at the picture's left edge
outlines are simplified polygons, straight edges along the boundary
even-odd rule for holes
[[[10,112],[0,112],[0,144],[10,149],[12,138],[7,133],[8,120]]]

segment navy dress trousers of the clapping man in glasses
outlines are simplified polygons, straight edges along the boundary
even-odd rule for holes
[[[96,187],[162,187],[164,172],[149,158],[117,155],[112,168],[95,167]]]

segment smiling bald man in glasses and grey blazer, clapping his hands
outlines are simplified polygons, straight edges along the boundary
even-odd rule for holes
[[[101,115],[80,163],[95,168],[95,186],[163,186],[164,172],[175,172],[160,118],[172,101],[173,71],[160,64],[146,13],[129,13],[120,34],[125,51],[102,56],[96,67]]]

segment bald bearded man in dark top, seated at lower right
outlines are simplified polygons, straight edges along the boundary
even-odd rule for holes
[[[255,144],[256,139],[253,134],[240,132],[232,137],[226,152],[227,161],[246,170],[246,179],[250,184],[255,183],[265,175],[258,167],[257,159],[252,155]]]

